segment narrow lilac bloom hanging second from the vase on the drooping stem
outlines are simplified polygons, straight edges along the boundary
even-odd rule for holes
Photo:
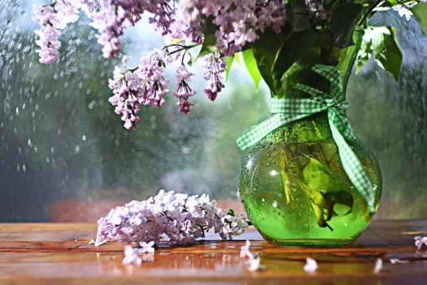
[[[194,105],[189,99],[189,97],[196,94],[195,91],[191,90],[188,85],[188,81],[191,76],[194,76],[193,73],[186,70],[185,66],[179,66],[176,68],[176,83],[178,83],[178,89],[174,92],[174,96],[179,99],[176,106],[179,107],[179,113],[189,113],[190,107]]]

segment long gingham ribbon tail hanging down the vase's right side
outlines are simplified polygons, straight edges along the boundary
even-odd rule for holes
[[[353,183],[354,187],[356,187],[356,189],[367,202],[370,212],[375,212],[374,187],[372,187],[368,173],[364,169],[362,162],[360,162],[359,158],[357,158],[357,156],[354,154],[352,148],[349,147],[344,137],[341,135],[341,133],[339,133],[339,130],[334,125],[334,120],[332,120],[332,118],[335,114],[332,112],[334,112],[334,110],[328,111],[328,117],[330,117],[329,123],[332,131],[332,137],[337,143],[342,167],[349,176],[349,179]]]

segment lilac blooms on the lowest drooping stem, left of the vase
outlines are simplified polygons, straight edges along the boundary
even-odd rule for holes
[[[128,56],[123,57],[123,63],[127,62]],[[172,63],[169,47],[162,50],[154,50],[150,56],[141,59],[142,63],[137,68],[124,70],[115,67],[114,78],[110,79],[109,87],[114,95],[109,99],[115,105],[115,112],[122,114],[125,121],[125,128],[137,129],[139,122],[140,105],[153,105],[161,107],[166,103],[164,97],[169,93],[167,85],[169,81],[164,76],[165,67]],[[210,53],[202,57],[203,78],[208,81],[208,86],[204,90],[208,98],[214,101],[222,88],[221,80],[226,72],[227,61],[221,53]],[[194,105],[190,101],[196,92],[189,86],[189,80],[194,73],[191,73],[181,64],[175,72],[177,88],[173,95],[178,98],[176,106],[180,113],[189,113],[190,107]]]

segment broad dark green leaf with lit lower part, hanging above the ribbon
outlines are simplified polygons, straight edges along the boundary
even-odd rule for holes
[[[282,97],[295,84],[304,81],[319,58],[319,36],[315,31],[292,33],[272,66],[275,95]]]

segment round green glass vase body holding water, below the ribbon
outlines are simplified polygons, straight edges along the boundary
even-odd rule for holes
[[[381,198],[381,172],[369,149],[347,141]],[[246,157],[241,201],[264,239],[281,246],[354,242],[374,217],[342,167],[327,113],[288,123],[260,140]]]

